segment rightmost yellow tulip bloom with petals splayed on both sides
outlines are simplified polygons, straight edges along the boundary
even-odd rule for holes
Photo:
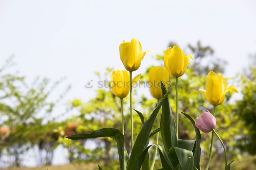
[[[222,75],[210,71],[206,77],[206,90],[199,89],[200,93],[211,105],[220,105],[225,99],[228,91],[238,93],[234,86],[227,87],[227,83]]]

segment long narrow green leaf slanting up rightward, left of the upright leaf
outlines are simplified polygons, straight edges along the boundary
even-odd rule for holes
[[[146,120],[146,122],[143,124],[141,131],[139,132],[136,141],[134,143],[134,146],[132,148],[132,152],[130,155],[130,159],[127,164],[128,170],[135,170],[137,168],[137,159],[139,155],[143,152],[143,150],[148,145],[148,138],[150,135],[150,131],[152,129],[152,126],[155,122],[156,115],[158,111],[160,110],[163,101],[166,99],[170,91],[168,91],[164,96],[163,99],[160,101],[156,109],[153,111],[153,113],[150,115],[150,117]]]

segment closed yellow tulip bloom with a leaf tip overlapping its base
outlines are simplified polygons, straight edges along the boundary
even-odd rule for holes
[[[161,81],[168,88],[169,73],[163,66],[156,66],[149,71],[150,93],[156,99],[162,98]]]

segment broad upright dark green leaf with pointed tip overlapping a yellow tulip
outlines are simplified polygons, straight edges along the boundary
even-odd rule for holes
[[[166,88],[162,82],[161,87],[162,94],[166,94]],[[160,121],[160,131],[166,152],[168,152],[170,147],[172,146],[178,147],[175,121],[173,118],[172,110],[170,108],[168,97],[163,102],[162,115]]]

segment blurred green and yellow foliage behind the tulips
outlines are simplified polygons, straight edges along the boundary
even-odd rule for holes
[[[170,42],[169,46],[175,43]],[[167,47],[166,47],[167,48]],[[164,53],[156,54],[156,63],[162,63]],[[205,89],[206,75],[210,70],[217,73],[225,71],[226,62],[214,56],[214,50],[210,46],[203,46],[198,42],[195,46],[189,44],[185,48],[186,54],[192,54],[194,61],[190,61],[186,74],[179,79],[179,110],[186,112],[192,118],[196,118],[206,110],[212,111],[212,106],[200,95],[198,89]],[[255,57],[256,58],[256,57]],[[118,154],[115,143],[109,138],[69,140],[65,136],[75,133],[90,133],[103,127],[121,128],[120,99],[115,97],[109,88],[101,88],[96,91],[95,97],[85,102],[79,99],[69,101],[67,112],[79,113],[62,122],[55,119],[49,120],[49,115],[58,102],[49,102],[48,96],[54,88],[47,91],[48,79],[37,79],[33,87],[25,84],[25,78],[17,74],[3,74],[3,70],[9,67],[9,62],[0,71],[0,156],[14,157],[14,161],[8,162],[9,166],[21,166],[22,157],[33,147],[37,147],[38,165],[51,164],[53,151],[62,146],[68,152],[67,159],[70,163],[86,163],[103,161],[104,167],[118,169]],[[141,76],[141,83],[148,80],[149,66]],[[112,68],[107,68],[105,73],[95,72],[99,80],[110,80]],[[256,141],[256,69],[255,64],[247,70],[247,73],[239,74],[237,79],[228,79],[232,84],[235,80],[241,85],[242,99],[231,104],[232,93],[226,95],[223,104],[217,107],[216,131],[226,145],[228,159],[242,161],[243,156],[255,154]],[[235,72],[234,72],[235,75]],[[175,82],[173,77],[170,81]],[[53,87],[58,86],[58,81]],[[148,94],[137,94],[134,88],[133,107],[141,111],[148,118],[154,110],[157,100]],[[149,91],[149,89],[148,89]],[[65,91],[66,92],[66,91]],[[61,96],[63,96],[65,94]],[[169,94],[172,112],[176,112],[175,84]],[[58,100],[57,100],[58,101]],[[124,98],[124,132],[125,148],[130,153],[130,104],[129,96]],[[160,112],[161,113],[161,112]],[[140,128],[140,118],[133,113],[134,137]],[[175,114],[174,114],[175,116]],[[180,114],[179,139],[193,139],[195,132],[187,118]],[[156,129],[156,123],[152,129]],[[210,145],[210,134],[202,133],[202,160],[207,159]],[[161,137],[161,135],[160,135]],[[151,141],[154,142],[154,138]],[[161,143],[161,138],[159,139]],[[224,158],[222,145],[215,138],[212,162]],[[218,150],[218,152],[217,152]],[[151,160],[153,149],[150,150]],[[0,161],[3,161],[0,159]],[[202,161],[202,168],[205,167]],[[1,163],[0,163],[1,164]],[[117,166],[116,166],[117,165]],[[248,167],[247,167],[248,166]],[[250,165],[244,165],[244,169]],[[160,168],[156,162],[156,168]],[[212,169],[221,169],[222,165],[212,164]],[[242,169],[242,168],[241,168]]]

